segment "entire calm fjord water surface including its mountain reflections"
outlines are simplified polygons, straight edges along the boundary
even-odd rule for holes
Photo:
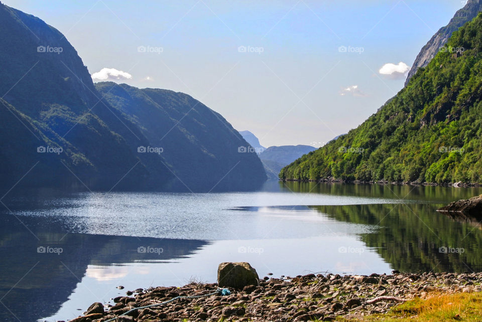
[[[2,200],[11,212],[0,204],[0,320],[67,320],[129,289],[214,282],[223,261],[248,261],[260,277],[482,271],[478,222],[435,211],[481,193],[314,183],[225,194],[12,192]]]

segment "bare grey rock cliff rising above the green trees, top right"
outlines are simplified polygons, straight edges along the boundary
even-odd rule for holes
[[[444,48],[443,46],[452,36],[452,33],[475,18],[480,11],[482,11],[482,0],[468,0],[462,9],[455,13],[448,25],[440,28],[428,43],[423,46],[408,73],[405,86],[420,67],[427,66],[440,48]]]

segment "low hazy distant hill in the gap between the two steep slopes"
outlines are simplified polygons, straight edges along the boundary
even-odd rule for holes
[[[281,169],[300,158],[304,154],[316,150],[311,145],[270,146],[260,153],[261,161],[267,170],[268,177],[278,179]]]

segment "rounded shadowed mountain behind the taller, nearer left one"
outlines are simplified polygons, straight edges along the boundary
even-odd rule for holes
[[[256,153],[238,149],[248,145],[243,137],[220,114],[191,96],[111,82],[95,87],[139,126],[150,147],[159,148],[166,164],[190,189],[229,190],[232,183],[237,189],[249,189],[266,180]]]

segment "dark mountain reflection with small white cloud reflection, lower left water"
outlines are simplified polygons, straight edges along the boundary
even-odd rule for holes
[[[9,220],[12,218],[6,221]],[[30,221],[29,226],[35,227],[35,224]],[[33,230],[37,239],[22,228],[12,222],[4,223],[1,228],[0,294],[8,310],[0,310],[0,320],[35,321],[53,315],[84,276],[106,281],[128,272],[123,266],[106,270],[89,265],[175,260],[190,256],[207,244],[199,240]],[[146,251],[142,252],[142,247]],[[147,247],[162,248],[162,252],[149,252]],[[94,294],[90,296],[95,298]]]

